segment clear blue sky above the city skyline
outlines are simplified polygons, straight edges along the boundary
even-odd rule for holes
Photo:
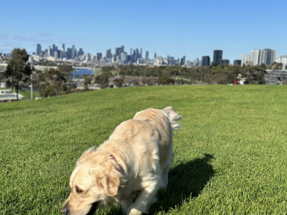
[[[231,63],[252,49],[287,55],[287,1],[1,1],[0,52],[50,44],[93,55],[124,45],[149,56],[201,59],[223,50]]]

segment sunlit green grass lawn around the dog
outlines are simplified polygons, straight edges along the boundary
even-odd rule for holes
[[[168,189],[150,214],[286,214],[286,92],[284,85],[134,87],[0,104],[0,214],[60,214],[85,149],[137,111],[170,105],[183,128]]]

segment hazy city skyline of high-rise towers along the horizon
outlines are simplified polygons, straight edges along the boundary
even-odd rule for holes
[[[273,62],[284,63],[286,64],[286,56],[279,56],[276,60],[276,50],[272,49],[253,49],[251,50],[251,54],[242,54],[241,59],[236,59],[230,62],[229,59],[223,59],[223,50],[213,50],[213,61],[210,61],[209,56],[202,56],[201,60],[199,58],[191,60],[186,60],[186,56],[182,56],[182,58],[175,58],[174,56],[159,56],[160,58],[156,58],[156,53],[154,53],[154,57],[149,57],[148,50],[145,51],[145,55],[143,55],[143,49],[129,49],[128,53],[127,49],[124,49],[124,45],[115,48],[115,53],[112,53],[112,49],[106,49],[105,54],[97,52],[94,53],[91,57],[90,53],[85,53],[82,48],[79,48],[78,51],[75,45],[72,45],[71,48],[65,49],[65,44],[62,44],[62,49],[58,49],[58,47],[53,44],[48,46],[48,49],[43,50],[41,44],[37,44],[36,52],[33,52],[33,56],[38,56],[36,60],[40,58],[45,58],[48,60],[80,60],[88,61],[92,59],[96,59],[101,63],[120,63],[120,64],[167,64],[167,65],[185,65],[185,66],[209,66],[209,65],[219,65],[219,64],[231,64],[231,65],[261,65],[262,63],[265,65],[271,65]],[[53,59],[49,59],[49,57],[53,57]],[[76,58],[77,57],[77,58]],[[212,56],[211,56],[212,57]],[[153,60],[153,62],[151,62]]]

